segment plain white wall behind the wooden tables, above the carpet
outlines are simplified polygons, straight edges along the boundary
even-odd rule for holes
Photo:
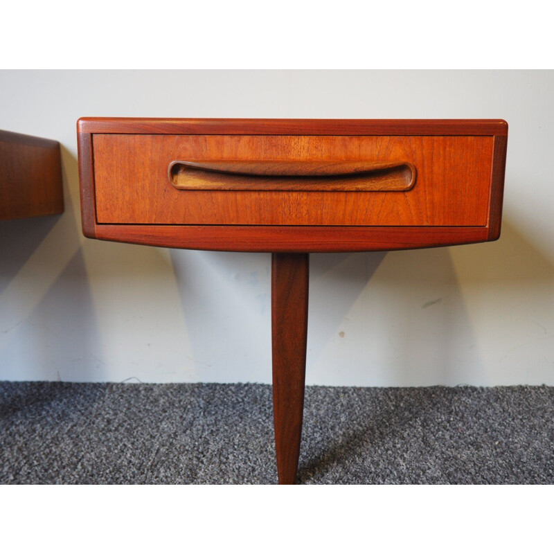
[[[504,118],[498,242],[312,254],[307,383],[554,385],[553,71],[0,71],[66,211],[0,222],[0,379],[271,381],[267,254],[84,239],[80,116]]]

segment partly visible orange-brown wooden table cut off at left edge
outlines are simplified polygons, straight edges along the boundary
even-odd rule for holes
[[[0,131],[0,220],[63,211],[60,143]]]

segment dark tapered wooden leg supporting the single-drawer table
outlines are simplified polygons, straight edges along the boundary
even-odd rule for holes
[[[275,447],[280,485],[294,485],[304,409],[309,254],[271,258]]]

